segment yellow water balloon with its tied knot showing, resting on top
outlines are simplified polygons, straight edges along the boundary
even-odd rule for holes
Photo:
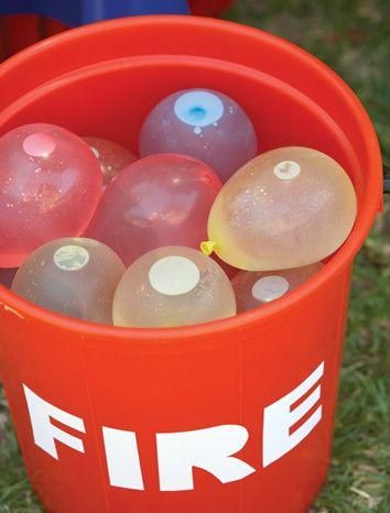
[[[356,208],[354,186],[336,161],[307,148],[281,148],[257,156],[224,185],[208,238],[238,269],[299,268],[343,244]]]

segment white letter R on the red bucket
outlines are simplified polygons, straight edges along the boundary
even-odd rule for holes
[[[193,490],[194,467],[206,470],[224,484],[256,472],[253,467],[232,457],[242,449],[248,438],[248,430],[239,425],[158,433],[161,491]]]

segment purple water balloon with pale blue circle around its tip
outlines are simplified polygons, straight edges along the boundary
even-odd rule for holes
[[[243,109],[212,89],[187,89],[163,99],[145,119],[141,156],[183,153],[201,159],[223,182],[257,154],[254,128]]]

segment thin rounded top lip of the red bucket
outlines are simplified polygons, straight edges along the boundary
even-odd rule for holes
[[[145,18],[172,19],[172,18],[181,18],[181,17],[145,17]],[[204,19],[201,19],[201,20],[202,20],[202,24],[204,24]],[[118,20],[113,22],[102,22],[102,24],[111,26],[112,24],[116,24],[118,22],[122,23],[122,20]],[[220,23],[223,24],[229,23],[229,22],[220,22],[220,21],[215,21],[215,20],[212,20],[210,22],[212,22],[210,24],[213,25],[220,24]],[[229,24],[236,26],[236,24],[234,23],[229,23]],[[240,29],[242,30],[242,28]],[[256,29],[247,29],[247,28],[243,28],[243,29],[245,31],[252,30],[254,32],[258,32]],[[87,31],[88,32],[90,30],[93,29],[82,28],[82,29],[76,29],[75,31],[83,31],[83,32]],[[66,35],[67,37],[69,36],[69,34],[65,33],[65,34],[59,34],[56,37],[64,37],[64,35]],[[267,34],[267,36],[270,36],[271,39],[280,40],[279,37],[272,36],[270,34]],[[284,40],[280,40],[280,42],[282,42],[283,44],[293,46],[295,51],[307,54],[305,51],[302,51],[301,48],[295,47],[291,43],[284,42]],[[47,44],[46,42],[44,43]],[[42,43],[39,43],[37,45],[42,45]],[[24,54],[29,52],[31,52],[31,48],[28,48],[26,51],[24,51]],[[366,198],[370,197],[370,194],[369,194],[370,189],[372,189],[371,193],[378,194],[378,190],[379,190],[381,194],[381,188],[380,188],[381,182],[380,179],[375,179],[376,178],[375,175],[377,174],[375,172],[377,167],[379,167],[380,161],[381,161],[380,153],[379,153],[379,145],[378,145],[378,141],[377,141],[376,134],[373,132],[373,129],[372,129],[372,125],[368,118],[367,112],[365,111],[364,107],[361,106],[360,101],[357,99],[355,94],[336,74],[334,74],[334,72],[331,68],[328,68],[326,65],[321,63],[318,59],[316,59],[316,57],[312,56],[311,54],[307,54],[307,56],[314,61],[317,61],[325,68],[327,73],[331,72],[332,75],[337,77],[338,81],[343,86],[344,94],[347,96],[349,100],[348,102],[351,103],[353,107],[355,107],[355,110],[357,113],[356,121],[358,121],[358,124],[364,131],[365,141],[367,141],[367,144],[368,144],[368,141],[370,141],[372,144],[372,148],[370,149],[367,148],[369,161],[371,162],[371,166],[369,170],[371,174],[371,179],[368,181],[368,187],[367,187],[365,197]],[[20,58],[20,56],[17,56],[17,58],[18,57]],[[238,66],[246,67],[242,65],[238,65]],[[252,70],[249,67],[248,69]],[[254,73],[258,73],[258,72],[254,72]],[[39,89],[39,87],[36,89]],[[368,135],[371,135],[371,138],[369,138]],[[375,165],[376,161],[377,161],[378,166]],[[371,208],[368,208],[368,207],[371,207]],[[293,291],[288,296],[279,299],[278,302],[270,303],[269,305],[264,305],[254,310],[239,314],[235,317],[219,319],[219,320],[215,320],[212,323],[199,324],[195,326],[185,326],[185,327],[176,327],[176,328],[159,328],[159,329],[158,328],[118,328],[118,327],[112,327],[112,326],[104,326],[104,325],[86,323],[83,320],[65,317],[59,314],[52,313],[50,310],[45,310],[41,307],[37,307],[29,303],[28,301],[21,297],[18,297],[12,292],[8,291],[7,288],[2,286],[0,286],[0,306],[2,306],[6,310],[9,310],[11,313],[13,312],[13,314],[19,315],[20,317],[24,317],[24,315],[20,313],[22,312],[23,314],[26,315],[26,317],[36,318],[41,323],[51,324],[57,328],[62,328],[65,330],[76,331],[79,335],[89,335],[89,336],[94,336],[95,338],[121,339],[121,340],[126,340],[127,342],[131,342],[134,340],[142,340],[143,342],[149,341],[149,342],[161,343],[161,342],[175,341],[182,338],[187,338],[187,339],[188,338],[194,339],[194,338],[201,338],[201,337],[204,338],[209,335],[224,334],[224,331],[226,330],[232,331],[232,330],[248,328],[251,325],[257,325],[257,324],[262,323],[267,318],[273,315],[277,315],[281,310],[286,310],[293,307],[297,307],[301,301],[304,301],[306,297],[312,295],[315,291],[319,290],[323,284],[325,284],[328,280],[337,275],[348,264],[350,264],[353,262],[353,259],[355,258],[355,254],[360,249],[361,243],[364,242],[367,236],[367,232],[369,231],[371,227],[376,211],[377,211],[377,208],[375,206],[375,201],[368,201],[366,199],[361,206],[359,226],[356,225],[354,227],[354,230],[348,237],[347,241],[336,252],[336,254],[333,256],[333,260],[328,262],[322,271],[319,271],[314,277],[307,281],[304,285]]]

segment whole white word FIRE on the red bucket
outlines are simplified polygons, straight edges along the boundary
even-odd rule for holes
[[[325,362],[293,391],[264,408],[262,434],[262,466],[266,468],[301,444],[322,419],[322,405],[293,433],[290,429],[310,414],[321,400],[321,384]],[[317,386],[314,388],[314,385]],[[26,385],[23,385],[30,413],[33,438],[37,447],[55,459],[58,458],[56,441],[78,452],[85,452],[84,444],[63,429],[54,426],[55,419],[79,433],[86,433],[84,421],[47,403]],[[305,397],[305,395],[307,396]],[[295,407],[294,404],[302,400]],[[137,434],[131,430],[102,428],[109,481],[112,487],[144,490]],[[194,469],[202,469],[221,483],[245,479],[256,469],[235,457],[248,441],[248,430],[238,424],[226,424],[177,433],[158,433],[156,451],[161,491],[194,489]]]

